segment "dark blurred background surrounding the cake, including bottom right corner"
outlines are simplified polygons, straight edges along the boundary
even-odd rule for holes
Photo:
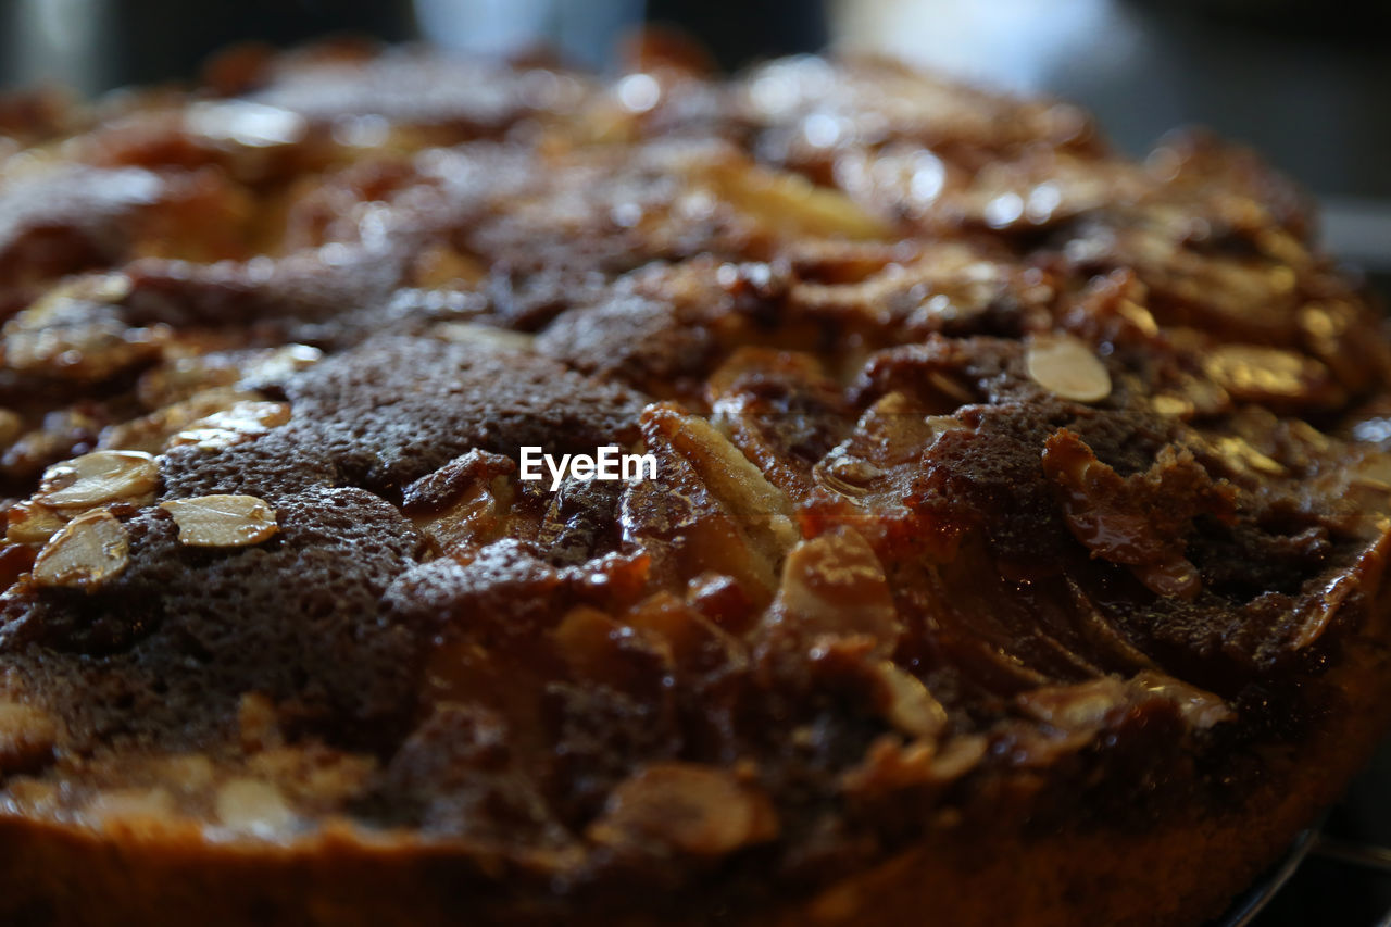
[[[644,21],[677,25],[732,70],[830,47],[1059,95],[1136,154],[1206,124],[1312,189],[1326,246],[1391,291],[1391,0],[0,0],[0,86],[97,95],[192,78],[231,42],[328,32],[548,47],[604,70]],[[1391,752],[1256,924],[1391,926],[1391,853],[1363,849],[1391,846],[1388,782]]]

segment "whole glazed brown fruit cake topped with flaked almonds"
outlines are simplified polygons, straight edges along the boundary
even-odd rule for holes
[[[1385,727],[1391,342],[1249,152],[209,75],[0,104],[6,923],[1195,923]]]

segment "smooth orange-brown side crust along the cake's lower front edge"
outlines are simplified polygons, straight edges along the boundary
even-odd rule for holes
[[[1200,923],[1278,859],[1366,761],[1367,745],[1391,722],[1388,671],[1383,647],[1349,661],[1337,674],[1345,710],[1287,752],[1241,807],[1199,816],[1178,809],[1138,832],[1064,827],[1022,841],[986,832],[965,842],[953,835],[786,908],[730,912],[729,923],[897,924],[922,912],[960,927]],[[164,820],[134,820],[100,837],[7,816],[0,849],[0,913],[22,927],[172,927],[193,919],[209,927],[680,923],[587,920],[524,899],[488,901],[462,887],[505,877],[501,869],[480,873],[448,846],[364,843],[360,834],[325,834],[294,849],[218,846],[193,825],[179,832]]]

